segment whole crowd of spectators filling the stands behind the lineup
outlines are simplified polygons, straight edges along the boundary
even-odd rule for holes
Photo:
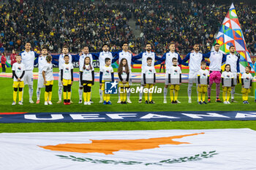
[[[235,4],[236,5],[236,4]],[[128,41],[132,52],[140,53],[146,42],[157,53],[165,53],[167,43],[176,42],[178,53],[188,53],[194,42],[203,52],[211,49],[230,4],[203,2],[133,1],[131,4],[98,4],[91,1],[24,0],[8,1],[0,7],[0,48],[23,50],[30,41],[34,50],[47,45],[50,52],[60,53],[67,45],[78,52],[89,45],[91,52],[101,50],[103,42],[110,50],[119,50]],[[256,53],[255,6],[236,5],[246,45]],[[133,16],[132,16],[133,15]],[[141,34],[137,39],[128,24],[133,18]]]

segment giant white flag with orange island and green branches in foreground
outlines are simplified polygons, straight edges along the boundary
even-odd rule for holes
[[[117,151],[111,154],[111,150]],[[4,133],[0,134],[0,153],[4,170],[256,169],[256,131]]]

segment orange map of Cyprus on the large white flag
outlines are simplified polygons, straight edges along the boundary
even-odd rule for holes
[[[204,134],[204,133],[200,133]],[[119,150],[146,150],[159,147],[160,144],[189,144],[189,142],[176,142],[173,139],[181,139],[186,136],[195,136],[198,134],[185,134],[180,136],[169,136],[149,139],[102,139],[91,140],[89,144],[57,144],[48,146],[39,146],[46,150],[64,151],[64,152],[99,152],[105,155],[113,155],[113,152]]]

